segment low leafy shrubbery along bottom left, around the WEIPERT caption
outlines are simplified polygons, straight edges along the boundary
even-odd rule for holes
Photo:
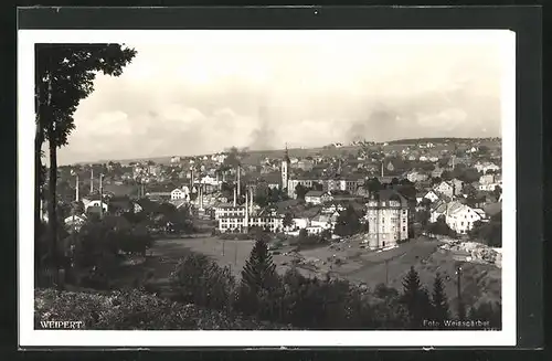
[[[34,326],[41,321],[79,320],[93,330],[257,330],[289,329],[245,317],[203,309],[139,290],[106,294],[38,289]]]

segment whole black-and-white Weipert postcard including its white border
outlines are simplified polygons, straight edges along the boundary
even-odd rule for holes
[[[514,55],[508,30],[20,31],[21,342],[513,344]]]

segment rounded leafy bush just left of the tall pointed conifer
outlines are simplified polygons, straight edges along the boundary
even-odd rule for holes
[[[227,309],[235,279],[227,267],[220,267],[202,254],[183,258],[171,275],[178,299],[214,309]]]

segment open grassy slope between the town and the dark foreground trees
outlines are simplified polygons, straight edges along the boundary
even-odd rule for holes
[[[126,266],[116,284],[129,284],[136,277],[152,274],[156,283],[167,284],[168,277],[179,259],[190,252],[201,253],[221,266],[229,266],[240,278],[245,262],[250,257],[254,241],[224,241],[208,235],[194,238],[158,240],[151,255],[140,265]],[[432,240],[413,240],[395,248],[373,252],[362,247],[359,242],[342,242],[331,246],[293,252],[284,246],[273,255],[278,273],[291,267],[294,258],[302,258],[298,269],[306,276],[321,276],[327,273],[364,284],[370,288],[388,284],[399,290],[411,266],[420,274],[421,283],[431,291],[435,274],[438,272],[445,282],[445,290],[450,302],[456,302],[456,269],[461,265],[461,295],[466,302],[501,299],[501,270],[491,265],[456,261],[448,251],[438,248],[439,243]],[[340,263],[336,263],[336,259]]]

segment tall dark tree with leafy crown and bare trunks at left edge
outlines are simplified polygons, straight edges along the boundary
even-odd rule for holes
[[[67,144],[75,124],[73,115],[81,99],[94,91],[96,74],[119,76],[136,52],[119,44],[39,44],[35,49],[35,199],[40,199],[41,150],[49,142],[49,241],[50,263],[57,267],[56,181],[57,148]],[[39,202],[36,202],[39,203]],[[40,211],[35,208],[35,221]],[[36,222],[38,223],[38,222]]]

